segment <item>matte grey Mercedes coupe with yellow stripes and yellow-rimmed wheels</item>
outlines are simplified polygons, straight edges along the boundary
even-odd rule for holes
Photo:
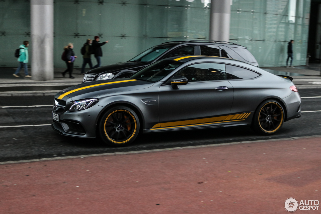
[[[264,135],[301,116],[288,76],[222,57],[172,57],[129,78],[101,80],[56,94],[52,128],[62,135],[100,137],[113,146],[141,132],[251,125]]]

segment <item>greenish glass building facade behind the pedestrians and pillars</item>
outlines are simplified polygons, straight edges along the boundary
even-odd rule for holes
[[[80,68],[80,49],[96,35],[109,40],[102,65],[167,41],[207,40],[210,6],[210,0],[55,0],[54,65],[65,67],[61,54],[72,42]],[[287,42],[294,39],[293,65],[305,65],[309,7],[310,0],[233,0],[230,41],[246,46],[266,67],[284,66]],[[30,2],[0,1],[0,67],[16,67],[14,50],[30,39]]]

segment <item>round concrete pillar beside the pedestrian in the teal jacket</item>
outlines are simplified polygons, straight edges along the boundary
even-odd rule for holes
[[[54,2],[30,1],[32,80],[54,79]]]

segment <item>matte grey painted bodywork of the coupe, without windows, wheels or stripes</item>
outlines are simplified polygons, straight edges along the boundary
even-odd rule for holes
[[[183,60],[182,60],[183,61]],[[285,106],[285,121],[298,117],[301,114],[297,109],[301,102],[299,93],[292,92],[289,88],[294,85],[290,80],[268,73],[258,67],[252,66],[238,60],[227,58],[186,58],[184,64],[173,70],[168,76],[156,83],[144,81],[133,81],[126,83],[109,84],[97,86],[68,94],[63,100],[66,101],[66,108],[63,113],[58,113],[61,120],[69,119],[79,121],[86,130],[86,135],[79,137],[96,137],[96,124],[100,115],[113,105],[131,106],[139,115],[141,127],[144,132],[162,131],[150,130],[160,122],[172,122],[180,120],[191,120],[215,117],[220,115],[252,112],[244,121],[224,122],[211,125],[199,125],[177,129],[195,129],[208,127],[222,127],[247,125],[252,121],[257,106],[267,99],[279,100]],[[187,85],[179,85],[173,89],[169,83],[170,78],[180,69],[198,62],[216,62],[244,67],[261,74],[249,80],[219,80],[207,82],[193,82]],[[128,78],[117,79],[126,80]],[[106,80],[91,82],[86,85],[112,82]],[[84,84],[77,85],[83,87]],[[227,86],[225,91],[215,90],[218,86]],[[61,93],[64,93],[63,91]],[[57,93],[58,98],[61,93]],[[86,98],[98,98],[99,102],[89,109],[82,111],[68,111],[73,100]],[[152,101],[152,102],[144,102]],[[91,116],[88,116],[88,115]],[[164,130],[164,129],[163,129]],[[61,134],[75,136],[74,134],[62,132]]]

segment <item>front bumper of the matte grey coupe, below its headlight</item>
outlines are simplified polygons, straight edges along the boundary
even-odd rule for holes
[[[54,121],[51,127],[62,135],[95,138],[100,113],[104,107],[94,105],[81,111],[64,111],[59,114],[59,122]],[[56,112],[55,112],[56,113]]]

